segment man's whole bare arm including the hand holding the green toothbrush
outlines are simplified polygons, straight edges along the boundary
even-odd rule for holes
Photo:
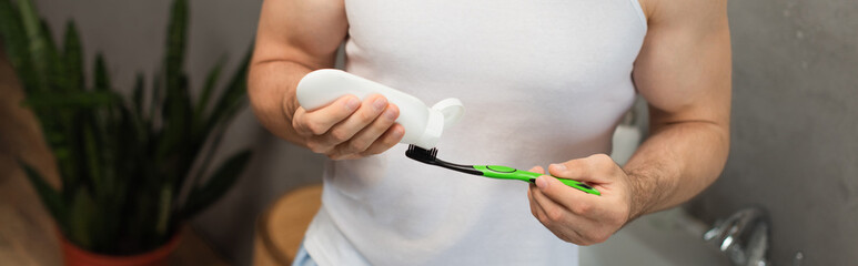
[[[605,154],[548,167],[555,176],[594,184],[602,196],[549,176],[538,177],[528,191],[534,216],[567,242],[602,243],[640,215],[687,201],[717,178],[727,160],[726,0],[643,0],[642,6],[649,29],[633,78],[649,102],[649,139],[623,168]]]

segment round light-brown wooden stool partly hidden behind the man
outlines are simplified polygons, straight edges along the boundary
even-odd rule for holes
[[[321,205],[321,184],[291,191],[274,202],[256,221],[253,265],[291,265]]]

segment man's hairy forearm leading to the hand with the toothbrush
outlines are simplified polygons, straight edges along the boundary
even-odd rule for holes
[[[633,184],[632,219],[697,195],[720,175],[729,152],[726,125],[692,121],[653,132],[623,167]]]

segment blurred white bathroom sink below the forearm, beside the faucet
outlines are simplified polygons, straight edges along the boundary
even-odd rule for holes
[[[582,247],[581,265],[730,265],[718,248],[703,241],[708,228],[678,207],[646,215],[605,243]]]

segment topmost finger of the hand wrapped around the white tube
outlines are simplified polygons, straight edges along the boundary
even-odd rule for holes
[[[331,126],[349,117],[361,106],[361,100],[354,95],[345,95],[327,106],[315,109],[313,111],[295,112],[292,125],[300,134],[321,135],[326,133]],[[300,108],[299,110],[303,110]]]

